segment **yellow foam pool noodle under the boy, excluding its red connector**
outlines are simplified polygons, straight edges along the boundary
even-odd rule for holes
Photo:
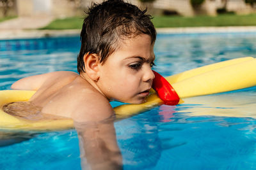
[[[166,78],[181,99],[244,89],[256,85],[256,59],[243,57],[198,67]],[[71,119],[31,121],[17,118],[1,109],[4,104],[15,101],[28,101],[35,91],[0,91],[0,128],[17,130],[47,131],[68,129],[74,126]],[[152,90],[143,104],[124,104],[114,108],[116,117],[124,118],[146,111],[163,101]]]

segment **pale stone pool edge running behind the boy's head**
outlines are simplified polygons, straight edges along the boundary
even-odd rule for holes
[[[232,33],[232,32],[255,32],[256,26],[236,26],[236,27],[175,27],[157,28],[160,34],[202,34],[202,33]],[[58,36],[79,36],[80,29],[67,30],[0,30],[0,39],[21,39],[21,38],[45,38]]]

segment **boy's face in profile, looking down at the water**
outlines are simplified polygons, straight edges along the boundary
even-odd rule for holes
[[[98,87],[108,99],[143,103],[151,89],[154,73],[154,44],[147,34],[122,41],[120,47],[100,65]]]

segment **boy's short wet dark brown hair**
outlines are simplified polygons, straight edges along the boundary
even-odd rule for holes
[[[80,34],[81,49],[77,56],[78,73],[85,72],[83,57],[86,53],[96,53],[104,64],[125,38],[148,34],[152,43],[156,40],[156,29],[147,10],[141,11],[123,0],[108,0],[92,4],[86,12]]]

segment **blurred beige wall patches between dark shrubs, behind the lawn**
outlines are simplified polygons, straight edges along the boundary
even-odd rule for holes
[[[145,8],[138,0],[127,0]],[[84,8],[87,8],[92,2],[100,3],[102,0],[17,0],[17,11],[19,16],[29,15],[50,15],[53,17],[70,17],[81,15]],[[148,5],[148,4],[147,4]],[[216,10],[223,7],[223,0],[205,0],[204,4],[196,11],[191,7],[190,0],[156,0],[149,5],[149,10],[169,10],[176,11],[180,15],[193,16],[197,13],[207,15],[216,15]],[[244,4],[244,0],[227,0],[227,10],[237,13],[250,13],[252,8]]]

